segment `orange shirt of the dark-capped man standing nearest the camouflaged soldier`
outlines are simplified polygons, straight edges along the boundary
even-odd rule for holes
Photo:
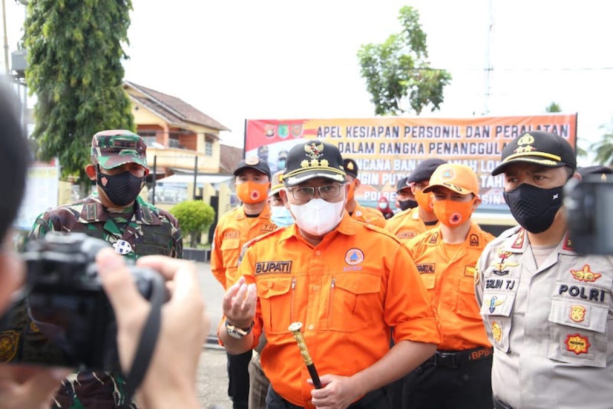
[[[247,217],[243,206],[235,207],[223,216],[215,227],[211,249],[211,272],[224,289],[232,286],[238,275],[238,256],[251,239],[276,229],[270,221],[270,207],[266,205],[257,217]]]

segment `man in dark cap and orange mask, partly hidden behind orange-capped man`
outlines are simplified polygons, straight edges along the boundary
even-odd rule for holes
[[[406,178],[406,184],[415,196],[417,207],[403,210],[386,221],[385,229],[396,235],[401,242],[407,243],[418,234],[433,229],[438,219],[433,211],[432,193],[424,193],[423,189],[430,183],[430,176],[441,164],[443,159],[425,159]]]

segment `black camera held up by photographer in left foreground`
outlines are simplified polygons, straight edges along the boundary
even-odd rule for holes
[[[27,243],[23,297],[0,319],[0,362],[120,369],[115,314],[95,263],[104,247],[83,233],[50,232]],[[164,291],[158,272],[128,268],[145,299]]]

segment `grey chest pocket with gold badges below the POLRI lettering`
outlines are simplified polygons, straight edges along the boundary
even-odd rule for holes
[[[607,305],[569,299],[552,300],[549,311],[549,359],[606,367]]]

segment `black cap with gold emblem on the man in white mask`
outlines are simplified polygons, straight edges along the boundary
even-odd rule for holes
[[[340,151],[321,140],[309,140],[295,145],[285,161],[285,186],[294,186],[316,177],[345,182],[345,167]]]

